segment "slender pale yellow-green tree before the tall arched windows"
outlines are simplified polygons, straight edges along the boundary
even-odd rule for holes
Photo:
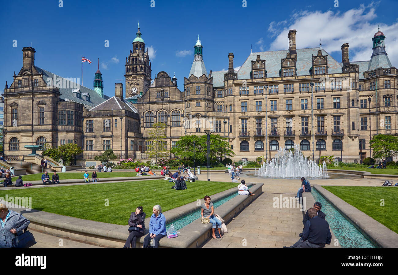
[[[165,157],[168,154],[166,149],[166,138],[165,130],[166,123],[157,122],[153,124],[152,128],[148,131],[148,139],[150,140],[150,144],[148,145],[148,155],[150,158],[155,159],[156,163],[158,159]]]

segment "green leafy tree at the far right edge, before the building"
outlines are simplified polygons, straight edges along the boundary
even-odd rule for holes
[[[375,159],[398,156],[398,137],[378,134],[371,139],[370,145]]]

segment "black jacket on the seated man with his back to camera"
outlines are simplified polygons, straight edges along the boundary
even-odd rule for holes
[[[312,244],[330,244],[332,234],[328,222],[318,216],[306,221],[302,239],[308,240]]]

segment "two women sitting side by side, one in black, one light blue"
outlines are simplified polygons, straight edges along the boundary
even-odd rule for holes
[[[142,206],[132,212],[129,219],[129,237],[123,248],[136,248],[137,238],[145,235],[145,217]],[[149,221],[149,234],[144,238],[144,248],[159,247],[159,240],[166,236],[166,217],[162,214],[162,207],[155,205],[152,209],[152,216]]]

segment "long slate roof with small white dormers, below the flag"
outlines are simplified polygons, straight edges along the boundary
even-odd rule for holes
[[[51,73],[51,72],[49,72],[49,71],[46,71],[46,70],[44,70],[44,69],[41,69],[41,68],[39,68],[39,67],[37,67],[37,66],[35,66],[35,68],[36,68],[37,72],[39,72],[39,73],[41,73],[41,71],[43,70],[43,78],[44,78],[45,81],[46,81],[47,78],[49,78],[49,77],[52,78],[52,79],[54,79],[54,75],[56,76],[56,78],[61,77],[61,76],[58,76],[58,75],[56,75],[56,74],[53,74],[53,73]],[[65,79],[64,77],[61,77],[61,78]],[[62,81],[63,81],[62,83],[64,83],[64,80],[62,80]],[[74,82],[69,81],[68,79],[65,79],[65,81],[66,81],[66,83],[69,83],[69,88],[60,88],[60,89],[59,89],[59,92],[61,93],[60,99],[63,99],[63,100],[68,99],[68,101],[73,101],[73,102],[81,103],[81,104],[83,104],[83,105],[88,106],[89,108],[90,108],[90,107],[95,107],[95,106],[97,106],[98,104],[103,103],[104,101],[106,101],[107,99],[109,99],[109,97],[106,96],[106,95],[104,95],[104,98],[102,98],[100,95],[98,95],[98,93],[97,93],[96,91],[94,91],[94,90],[92,90],[92,89],[89,89],[89,88],[84,87],[84,86],[82,86],[82,85],[78,85],[78,84],[76,84],[76,83],[73,84]],[[54,83],[54,85],[56,85],[56,84],[57,84],[57,83]],[[74,90],[73,85],[75,85],[75,87],[76,87],[76,85],[78,85],[78,89],[79,89],[80,93],[82,93],[82,95],[83,95],[84,93],[90,93],[90,101],[86,101],[86,100],[85,100],[85,97],[77,98],[77,97],[76,97],[76,94],[73,93],[73,90]]]

